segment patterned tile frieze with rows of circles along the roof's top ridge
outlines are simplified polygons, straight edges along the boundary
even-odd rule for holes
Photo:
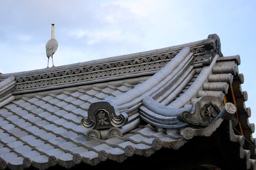
[[[142,56],[136,59],[109,62],[99,65],[80,66],[68,70],[57,70],[31,76],[15,77],[14,91],[37,89],[53,85],[71,84],[76,82],[90,82],[91,80],[104,79],[116,76],[135,75],[140,72],[152,72],[161,69],[178,54],[179,50]],[[191,47],[195,60],[202,60],[204,46]]]

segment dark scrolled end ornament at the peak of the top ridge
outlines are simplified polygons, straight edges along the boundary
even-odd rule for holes
[[[204,42],[204,56],[203,56],[203,64],[210,65],[212,59],[216,54],[222,57],[221,53],[221,42],[220,38],[217,34],[210,34],[207,40]]]

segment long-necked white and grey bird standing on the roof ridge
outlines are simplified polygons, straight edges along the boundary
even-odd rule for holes
[[[51,39],[46,43],[46,56],[48,57],[47,68],[49,67],[49,58],[53,56],[57,48],[58,48],[58,42],[54,37],[54,24],[52,23]],[[53,59],[52,59],[52,66],[54,67]]]

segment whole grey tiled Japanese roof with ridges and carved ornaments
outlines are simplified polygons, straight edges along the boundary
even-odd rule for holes
[[[188,44],[0,75],[0,169],[66,168],[178,150],[224,122],[256,169],[239,56],[218,35]],[[245,140],[246,139],[246,140]]]

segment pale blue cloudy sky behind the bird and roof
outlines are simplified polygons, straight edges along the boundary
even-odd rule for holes
[[[0,0],[0,72],[47,67],[55,23],[55,66],[206,39],[216,33],[224,56],[240,55],[242,90],[256,123],[256,1]],[[52,64],[50,63],[50,66]]]

